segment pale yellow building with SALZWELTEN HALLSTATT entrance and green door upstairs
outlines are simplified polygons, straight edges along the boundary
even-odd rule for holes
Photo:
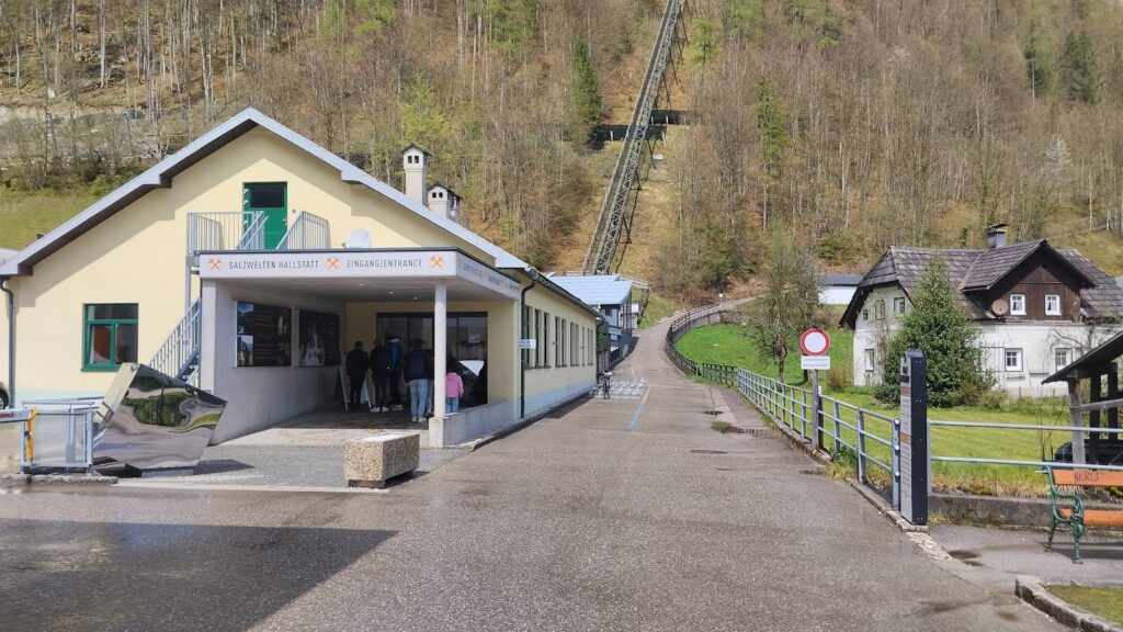
[[[147,363],[229,401],[216,442],[331,405],[354,342],[390,335],[483,380],[456,414],[435,381],[435,446],[587,392],[599,313],[402,156],[404,192],[243,111],[0,263],[0,376],[16,401],[99,396]]]

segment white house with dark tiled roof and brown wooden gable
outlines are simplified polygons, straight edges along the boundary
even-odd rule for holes
[[[1044,240],[1005,244],[996,227],[986,250],[893,246],[866,273],[841,324],[853,329],[853,378],[882,379],[884,351],[929,262],[942,256],[956,298],[978,323],[985,369],[1013,395],[1062,395],[1042,380],[1123,331],[1123,288],[1079,252]]]

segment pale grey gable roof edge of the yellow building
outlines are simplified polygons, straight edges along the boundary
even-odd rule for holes
[[[43,261],[52,253],[73,242],[83,233],[136,201],[148,191],[171,187],[172,179],[175,175],[256,127],[270,130],[274,135],[338,170],[339,179],[344,182],[367,187],[390,198],[404,209],[419,215],[427,222],[436,224],[454,236],[487,253],[487,255],[495,259],[494,265],[496,268],[530,269],[527,263],[513,254],[476,235],[464,226],[430,211],[422,204],[407,197],[405,193],[375,179],[362,169],[296,134],[257,109],[246,108],[9,258],[0,264],[0,277],[30,274],[31,267],[39,261]]]

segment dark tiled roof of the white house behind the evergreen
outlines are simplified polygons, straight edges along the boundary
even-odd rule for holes
[[[1044,240],[1012,244],[990,250],[922,249],[892,246],[858,283],[850,304],[847,305],[840,323],[853,327],[858,320],[866,297],[874,288],[900,285],[905,296],[911,297],[925,268],[935,256],[943,258],[948,265],[949,280],[959,291],[956,300],[969,318],[975,320],[995,319],[987,306],[971,300],[969,292],[989,289],[1011,273],[1019,264],[1039,250],[1056,255],[1062,265],[1081,281],[1080,315],[1085,318],[1123,317],[1123,288],[1095,263],[1074,250],[1054,250]],[[1008,251],[1008,252],[1007,252]]]

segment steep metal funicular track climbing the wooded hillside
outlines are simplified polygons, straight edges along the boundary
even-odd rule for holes
[[[685,0],[667,0],[667,9],[663,13],[659,34],[651,48],[639,98],[636,100],[628,124],[628,134],[612,170],[612,180],[609,181],[609,189],[596,218],[596,229],[593,232],[585,255],[585,264],[582,268],[585,274],[611,273],[623,260],[636,216],[640,170],[651,153],[647,138],[651,112],[659,99],[660,89],[665,87],[664,76],[672,61],[673,46],[678,38],[679,18],[685,3]]]

